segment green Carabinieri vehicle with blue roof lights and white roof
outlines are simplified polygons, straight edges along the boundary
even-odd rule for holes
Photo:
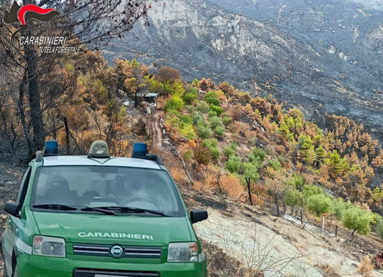
[[[110,157],[104,141],[88,156],[36,152],[1,240],[7,277],[206,277],[206,257],[162,159],[135,143]]]

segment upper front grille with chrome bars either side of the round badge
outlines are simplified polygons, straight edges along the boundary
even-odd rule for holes
[[[113,245],[74,244],[73,253],[88,256],[112,256],[110,249]],[[129,258],[160,258],[161,247],[121,246],[124,249],[121,257]]]

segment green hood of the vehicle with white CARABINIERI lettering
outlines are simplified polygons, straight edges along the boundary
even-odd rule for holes
[[[33,212],[43,236],[64,238],[69,243],[166,246],[172,241],[190,241],[190,223],[185,217],[95,215]]]

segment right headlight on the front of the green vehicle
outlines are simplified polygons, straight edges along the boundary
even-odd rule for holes
[[[198,244],[169,243],[168,262],[198,262],[200,258]]]

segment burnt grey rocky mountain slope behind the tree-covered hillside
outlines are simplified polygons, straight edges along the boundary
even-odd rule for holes
[[[103,54],[176,67],[187,80],[262,88],[309,117],[316,109],[351,116],[382,140],[380,7],[378,0],[155,0],[150,26],[142,19]]]

